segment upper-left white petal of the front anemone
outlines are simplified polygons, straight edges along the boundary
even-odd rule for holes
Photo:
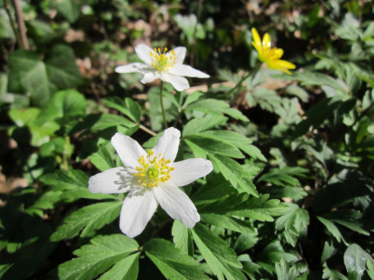
[[[114,134],[111,143],[114,149],[116,149],[119,158],[121,159],[125,167],[136,168],[137,166],[139,166],[139,158],[142,155],[144,157],[147,156],[147,153],[137,141],[120,132]]]

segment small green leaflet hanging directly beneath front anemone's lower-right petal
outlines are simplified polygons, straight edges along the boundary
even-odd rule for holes
[[[175,247],[181,249],[184,255],[193,256],[192,237],[188,227],[180,221],[175,220],[171,229],[171,235],[173,236]]]

